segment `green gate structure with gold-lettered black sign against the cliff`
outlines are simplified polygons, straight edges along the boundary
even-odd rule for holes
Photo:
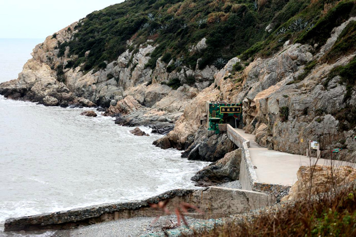
[[[242,125],[242,103],[209,103],[208,130],[219,134],[219,124]]]

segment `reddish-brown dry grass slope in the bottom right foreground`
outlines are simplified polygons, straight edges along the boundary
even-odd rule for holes
[[[194,236],[356,236],[355,201],[353,185],[320,199],[298,200],[294,205],[258,215],[252,222],[230,223]]]

